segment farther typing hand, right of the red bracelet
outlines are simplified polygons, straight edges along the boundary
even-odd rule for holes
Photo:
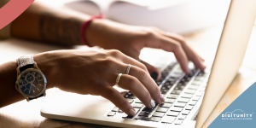
[[[173,52],[185,73],[189,73],[189,61],[201,70],[205,68],[204,60],[186,43],[183,37],[170,32],[162,32],[154,27],[129,26],[111,20],[93,20],[86,32],[86,38],[90,46],[119,49],[125,55],[137,60],[144,47]],[[158,71],[145,62],[143,64],[148,67],[149,73]]]

